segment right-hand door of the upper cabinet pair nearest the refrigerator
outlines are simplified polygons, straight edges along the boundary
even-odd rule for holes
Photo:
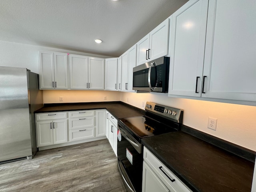
[[[55,89],[68,89],[68,55],[54,53]]]

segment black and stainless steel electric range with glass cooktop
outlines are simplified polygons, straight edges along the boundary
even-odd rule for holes
[[[142,191],[143,148],[141,139],[178,131],[183,110],[147,102],[145,116],[118,120],[118,170],[128,192]]]

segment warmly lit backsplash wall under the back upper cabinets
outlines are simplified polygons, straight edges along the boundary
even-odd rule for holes
[[[63,101],[60,101],[60,96],[63,97]],[[105,96],[106,100],[104,100]],[[121,94],[117,91],[43,90],[44,104],[120,101],[120,98]]]

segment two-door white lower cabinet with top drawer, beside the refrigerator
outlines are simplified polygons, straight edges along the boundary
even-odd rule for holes
[[[58,119],[58,116],[63,119]],[[66,117],[67,113],[36,114],[37,147],[68,142]],[[49,120],[38,121],[41,118]]]

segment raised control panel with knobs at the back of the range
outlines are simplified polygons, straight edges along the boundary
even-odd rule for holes
[[[175,122],[182,123],[183,110],[181,109],[155,104],[152,102],[147,102],[145,110],[148,112],[156,113],[164,118],[168,118]]]

